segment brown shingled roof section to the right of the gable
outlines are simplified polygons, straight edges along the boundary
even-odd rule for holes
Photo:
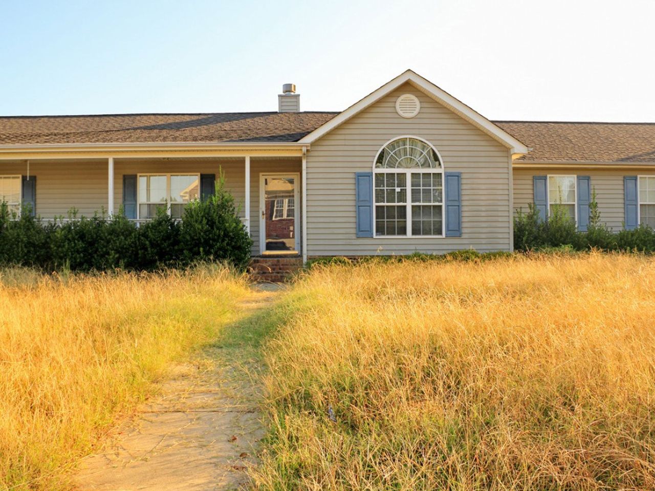
[[[655,123],[493,123],[533,148],[517,162],[655,162]]]

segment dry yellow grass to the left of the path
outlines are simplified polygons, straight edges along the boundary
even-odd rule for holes
[[[117,412],[231,320],[246,282],[218,267],[39,278],[0,273],[0,489],[53,490]]]

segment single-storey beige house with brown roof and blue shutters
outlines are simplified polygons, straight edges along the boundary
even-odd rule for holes
[[[491,121],[407,70],[345,111],[0,118],[0,199],[180,217],[225,174],[253,255],[512,249],[515,209],[655,225],[655,124]],[[652,194],[650,194],[652,193]]]

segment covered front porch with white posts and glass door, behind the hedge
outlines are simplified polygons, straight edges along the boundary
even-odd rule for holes
[[[11,159],[0,155],[0,176],[29,176],[35,213],[42,219],[112,215],[123,211],[137,223],[156,208],[181,215],[185,203],[206,194],[211,177],[225,179],[238,213],[253,239],[252,255],[306,257],[305,151],[253,152],[252,155],[117,155],[97,158]],[[273,155],[269,155],[269,154]],[[231,155],[230,155],[231,154]],[[22,193],[23,194],[23,193]],[[21,196],[24,200],[26,196]]]

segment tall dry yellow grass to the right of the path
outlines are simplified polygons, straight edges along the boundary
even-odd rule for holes
[[[655,489],[652,259],[333,266],[284,309],[260,489]]]

